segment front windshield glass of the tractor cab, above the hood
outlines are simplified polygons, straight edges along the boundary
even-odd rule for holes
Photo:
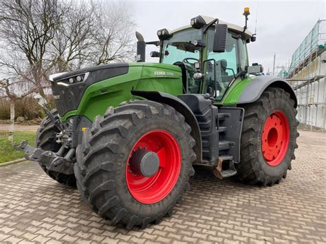
[[[160,63],[173,65],[176,62],[183,62],[185,58],[195,58],[199,61],[202,47],[195,47],[193,41],[202,38],[202,31],[197,29],[177,32],[169,40],[163,41]]]

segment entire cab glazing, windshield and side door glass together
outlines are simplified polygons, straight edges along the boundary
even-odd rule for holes
[[[213,52],[215,30],[212,27],[206,33],[205,48],[193,44],[194,41],[203,39],[200,29],[188,29],[173,34],[169,40],[164,40],[162,43],[160,63],[177,65],[182,69],[184,93],[214,91],[215,100],[219,101],[226,94],[236,75],[244,70],[248,63],[246,42],[239,38],[239,34],[229,31],[226,36],[225,52]],[[201,58],[206,58],[201,63],[203,80],[193,76],[197,73],[194,64],[200,63]]]

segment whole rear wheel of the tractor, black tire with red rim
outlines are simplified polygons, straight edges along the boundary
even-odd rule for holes
[[[250,184],[272,186],[286,177],[295,159],[298,121],[294,101],[283,89],[270,87],[244,109],[237,177]]]

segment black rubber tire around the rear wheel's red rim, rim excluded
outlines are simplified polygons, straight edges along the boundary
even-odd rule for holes
[[[243,108],[245,115],[241,133],[241,162],[236,166],[236,177],[248,184],[279,184],[282,177],[285,179],[287,170],[291,170],[291,161],[295,159],[294,149],[298,148],[298,120],[294,100],[283,89],[270,87],[262,93],[259,100],[246,104]],[[276,166],[271,166],[265,160],[261,142],[263,126],[273,111],[281,111],[286,115],[290,135],[285,157]]]

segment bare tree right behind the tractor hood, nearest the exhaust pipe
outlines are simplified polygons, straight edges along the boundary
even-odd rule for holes
[[[82,1],[67,11],[52,39],[57,71],[133,58],[135,21],[125,2]]]

